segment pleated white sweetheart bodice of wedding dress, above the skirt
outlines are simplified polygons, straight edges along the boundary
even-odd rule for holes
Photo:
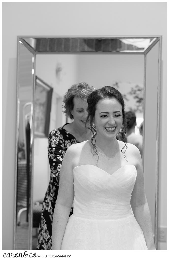
[[[111,175],[95,165],[79,165],[73,176],[74,216],[104,220],[131,215],[130,199],[137,176],[134,165],[124,165]]]

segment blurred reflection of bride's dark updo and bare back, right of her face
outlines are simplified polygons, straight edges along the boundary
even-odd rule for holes
[[[126,112],[126,118],[127,118],[127,129],[126,129],[127,143],[137,146],[142,158],[143,137],[141,134],[135,134],[135,127],[137,124],[136,115],[133,111],[128,111]]]

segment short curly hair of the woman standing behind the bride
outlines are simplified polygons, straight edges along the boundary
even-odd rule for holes
[[[63,112],[66,114],[66,116],[69,117],[70,119],[73,119],[73,115],[71,114],[71,111],[74,108],[74,102],[73,102],[74,97],[80,97],[81,99],[87,100],[87,97],[94,90],[95,89],[91,85],[85,82],[80,82],[72,85],[72,87],[67,90],[67,92],[63,97],[62,108],[65,109]]]

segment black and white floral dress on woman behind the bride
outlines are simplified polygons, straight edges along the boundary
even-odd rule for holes
[[[39,226],[36,249],[51,250],[52,246],[52,220],[54,207],[59,189],[60,168],[67,148],[79,143],[76,138],[66,131],[64,126],[54,129],[48,137],[48,158],[51,168],[50,181],[43,201],[41,222]],[[70,215],[73,213],[73,209]]]

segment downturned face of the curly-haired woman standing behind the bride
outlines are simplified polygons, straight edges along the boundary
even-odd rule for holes
[[[85,128],[87,119],[87,100],[81,99],[80,97],[74,97],[74,107],[71,114],[74,117],[74,122],[80,128]]]

